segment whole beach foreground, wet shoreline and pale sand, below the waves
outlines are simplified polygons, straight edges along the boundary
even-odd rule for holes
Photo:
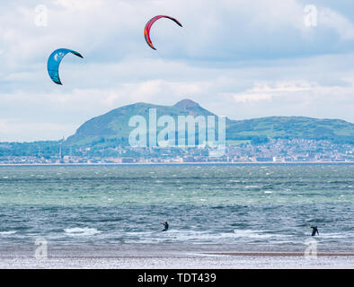
[[[2,250],[0,268],[119,268],[119,269],[352,269],[354,253],[208,252],[189,248],[51,248],[47,259],[36,259],[31,248]],[[34,248],[32,248],[34,249]]]

